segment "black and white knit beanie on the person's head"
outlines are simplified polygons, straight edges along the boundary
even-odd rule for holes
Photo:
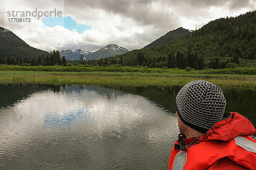
[[[189,82],[175,99],[180,120],[203,133],[221,121],[225,107],[226,99],[221,88],[204,80]]]

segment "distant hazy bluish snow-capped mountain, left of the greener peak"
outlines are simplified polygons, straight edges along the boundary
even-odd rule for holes
[[[60,51],[61,58],[63,56],[65,56],[66,59],[68,59],[68,60],[79,60],[79,57],[81,56],[81,54],[83,55],[84,59],[86,59],[87,56],[89,54],[92,54],[92,53],[93,52],[84,51],[84,50],[81,50],[81,49],[77,49],[77,50],[64,49],[64,50]]]

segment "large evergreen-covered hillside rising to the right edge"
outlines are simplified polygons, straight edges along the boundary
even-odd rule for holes
[[[154,48],[87,61],[87,64],[168,68],[255,67],[256,11],[220,18],[186,35]]]

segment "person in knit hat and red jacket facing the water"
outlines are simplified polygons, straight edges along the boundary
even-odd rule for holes
[[[177,94],[175,107],[180,134],[169,170],[256,170],[256,141],[250,137],[256,130],[239,113],[224,113],[221,88],[189,82]]]

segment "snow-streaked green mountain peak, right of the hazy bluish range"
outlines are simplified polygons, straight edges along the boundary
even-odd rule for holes
[[[86,60],[112,57],[115,55],[127,53],[128,51],[129,51],[128,49],[124,47],[120,47],[116,44],[108,44],[102,47],[101,49],[99,49],[98,51],[94,52],[93,54],[89,54]]]

